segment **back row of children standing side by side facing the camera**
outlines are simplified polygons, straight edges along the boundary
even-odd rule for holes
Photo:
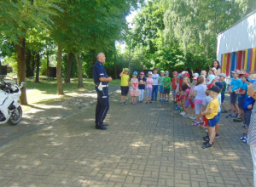
[[[131,104],[140,104],[144,100],[144,92],[146,90],[146,104],[157,101],[158,92],[160,93],[160,102],[169,102],[171,92],[171,78],[169,77],[169,71],[160,71],[154,68],[154,71],[148,71],[147,77],[145,73],[141,71],[138,75],[137,71],[132,73],[132,77],[128,76],[129,69],[124,68],[120,73],[121,77],[121,103],[120,105],[127,105],[126,96],[131,96]],[[131,82],[131,84],[130,84]]]

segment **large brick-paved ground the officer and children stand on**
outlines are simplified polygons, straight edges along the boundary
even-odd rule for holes
[[[240,123],[222,117],[220,139],[203,150],[204,130],[172,104],[110,99],[108,131],[95,129],[89,105],[2,146],[0,186],[253,186]]]

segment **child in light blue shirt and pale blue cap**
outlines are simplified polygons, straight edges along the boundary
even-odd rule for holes
[[[236,111],[239,111],[238,106],[236,104],[236,99],[237,99],[236,90],[241,88],[241,83],[242,83],[241,79],[238,78],[239,74],[240,74],[239,70],[232,71],[233,79],[230,82],[230,90],[229,90],[231,114],[229,116],[226,116],[227,118],[235,117],[235,109]]]

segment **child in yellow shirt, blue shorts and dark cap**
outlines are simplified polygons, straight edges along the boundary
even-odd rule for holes
[[[209,132],[209,141],[203,144],[202,148],[207,149],[212,147],[216,131],[215,127],[218,123],[218,94],[220,93],[220,88],[217,86],[212,86],[209,90],[209,95],[212,97],[212,101],[207,105],[207,110],[201,113],[202,116],[206,116],[208,119],[208,132]]]

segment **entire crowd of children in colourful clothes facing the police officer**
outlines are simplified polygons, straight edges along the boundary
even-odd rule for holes
[[[154,69],[154,73],[148,71],[148,77],[145,77],[142,71],[138,78],[137,71],[134,71],[129,87],[130,77],[127,75],[128,71],[128,69],[124,69],[120,73],[121,105],[127,104],[125,96],[128,92],[131,95],[131,103],[133,105],[136,104],[138,96],[139,103],[143,103],[145,89],[146,103],[152,103],[153,100],[157,100],[158,90],[160,92],[159,101],[169,102],[172,88],[173,102],[176,103],[174,109],[179,110],[184,117],[192,119],[193,126],[205,128],[208,134],[203,138],[206,142],[202,148],[212,147],[214,139],[219,138],[220,114],[228,112],[224,104],[227,89],[226,75],[224,73],[218,76],[209,73],[207,77],[207,71],[201,71],[201,75],[198,73],[193,74],[191,83],[188,71],[181,73],[174,71],[172,72],[172,79],[169,77],[168,71],[160,71],[159,76],[157,69]],[[229,87],[231,114],[226,116],[227,118],[236,116],[234,122],[244,122],[243,127],[247,127],[247,132],[243,134],[241,140],[245,143],[247,142],[248,127],[255,101],[252,95],[247,94],[247,87],[256,81],[256,77],[249,78],[249,76],[246,72],[232,71],[233,79]],[[237,98],[238,105],[236,105]]]

